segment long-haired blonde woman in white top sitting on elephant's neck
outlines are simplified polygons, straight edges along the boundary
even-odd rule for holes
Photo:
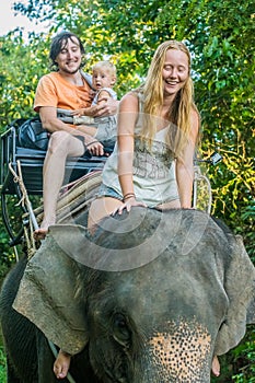
[[[167,40],[155,50],[144,84],[120,101],[117,144],[89,227],[132,206],[190,208],[198,129],[190,54],[183,43]]]

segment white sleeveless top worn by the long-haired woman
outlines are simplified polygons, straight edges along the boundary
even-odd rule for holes
[[[140,103],[140,111],[142,104]],[[135,128],[134,149],[134,192],[136,199],[143,201],[148,207],[178,199],[177,184],[175,177],[175,160],[166,144],[166,134],[170,126],[155,134],[151,149],[141,141],[139,131],[141,118],[138,118]],[[103,184],[123,195],[118,181],[118,146],[115,144],[114,152],[107,159],[103,170]]]

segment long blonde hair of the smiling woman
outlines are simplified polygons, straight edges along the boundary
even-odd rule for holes
[[[172,123],[167,136],[167,144],[178,156],[187,143],[190,131],[192,111],[197,111],[194,103],[194,86],[190,78],[190,54],[185,44],[177,40],[162,43],[154,53],[144,84],[140,88],[143,94],[143,124],[141,137],[152,142],[157,132],[157,119],[159,108],[163,105],[163,78],[162,71],[165,63],[165,54],[169,49],[182,50],[188,58],[188,78],[185,85],[178,91],[169,111],[169,119]]]

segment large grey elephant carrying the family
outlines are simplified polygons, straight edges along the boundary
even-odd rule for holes
[[[50,227],[2,286],[8,383],[58,382],[50,344],[77,383],[210,382],[255,318],[242,239],[193,209],[136,207],[93,235],[80,223]]]

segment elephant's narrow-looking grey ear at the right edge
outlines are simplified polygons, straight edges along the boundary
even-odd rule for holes
[[[229,298],[227,317],[216,340],[215,355],[223,355],[243,338],[246,324],[253,322],[255,300],[255,268],[240,235],[228,235],[232,254],[225,270],[225,292]]]

